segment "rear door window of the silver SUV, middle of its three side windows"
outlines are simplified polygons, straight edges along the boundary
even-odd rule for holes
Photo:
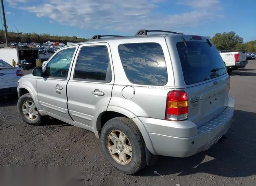
[[[78,56],[74,78],[111,81],[107,47],[83,47]]]

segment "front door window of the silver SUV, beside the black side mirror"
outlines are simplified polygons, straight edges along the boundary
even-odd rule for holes
[[[75,52],[75,48],[58,52],[47,64],[46,73],[50,77],[68,77],[68,70]]]

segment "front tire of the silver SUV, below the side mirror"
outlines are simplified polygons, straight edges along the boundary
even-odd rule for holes
[[[28,107],[26,107],[25,103],[29,103],[29,104],[31,103],[30,107],[31,108],[33,107],[32,108],[33,113],[37,113],[37,115],[32,115],[32,119],[28,119],[30,117],[30,113],[27,113],[28,110],[23,112],[24,109],[29,109]],[[17,103],[18,113],[19,113],[20,117],[22,118],[22,120],[25,123],[27,123],[28,125],[34,125],[34,126],[42,125],[44,122],[48,121],[49,117],[40,115],[36,106],[35,105],[33,106],[33,104],[34,104],[34,100],[32,99],[30,93],[22,95],[18,99],[18,103]],[[32,110],[31,110],[31,112],[32,112]]]

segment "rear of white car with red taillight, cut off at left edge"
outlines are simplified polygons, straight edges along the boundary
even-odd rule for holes
[[[20,68],[13,67],[0,59],[0,89],[5,87],[4,83],[16,82],[22,75]]]

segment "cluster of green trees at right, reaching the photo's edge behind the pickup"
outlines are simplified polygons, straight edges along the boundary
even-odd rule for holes
[[[256,52],[256,40],[244,42],[234,31],[216,33],[210,38],[218,50]]]

